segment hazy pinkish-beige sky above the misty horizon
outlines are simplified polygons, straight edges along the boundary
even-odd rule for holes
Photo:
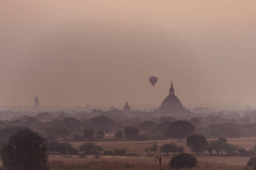
[[[255,7],[0,0],[0,105],[256,105]]]

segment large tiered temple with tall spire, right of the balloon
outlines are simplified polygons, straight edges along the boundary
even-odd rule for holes
[[[169,95],[164,99],[160,107],[155,110],[156,113],[190,113],[188,109],[183,107],[180,99],[174,93],[174,86],[171,82],[171,88],[169,90]]]

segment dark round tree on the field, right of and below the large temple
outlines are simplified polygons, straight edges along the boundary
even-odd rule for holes
[[[196,154],[198,154],[199,152],[207,150],[208,141],[204,135],[189,135],[187,137],[187,146],[190,147],[192,152],[196,152]]]

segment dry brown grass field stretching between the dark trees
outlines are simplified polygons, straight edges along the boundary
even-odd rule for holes
[[[208,139],[211,141],[214,139]],[[155,162],[155,156],[146,156],[144,148],[152,145],[154,141],[115,141],[115,142],[94,142],[105,150],[113,148],[126,147],[130,154],[135,153],[139,156],[103,156],[96,159],[94,156],[79,156],[67,155],[49,155],[49,160],[52,169],[158,169],[158,162]],[[177,146],[182,146],[184,152],[190,152],[186,146],[186,140],[164,140],[158,141],[159,148],[164,143],[175,143]],[[80,146],[84,142],[71,142],[74,147]],[[256,138],[230,138],[228,143],[244,147],[246,150],[253,148],[256,145]],[[171,153],[170,153],[171,154]],[[168,162],[174,155],[162,155],[163,169],[168,169]],[[209,156],[207,153],[195,155],[199,161],[197,168],[194,169],[245,169],[249,156]]]

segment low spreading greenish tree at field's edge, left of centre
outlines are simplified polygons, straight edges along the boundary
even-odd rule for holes
[[[97,146],[95,143],[86,142],[79,146],[79,151],[84,152],[85,155],[96,155],[103,151],[104,148]]]

